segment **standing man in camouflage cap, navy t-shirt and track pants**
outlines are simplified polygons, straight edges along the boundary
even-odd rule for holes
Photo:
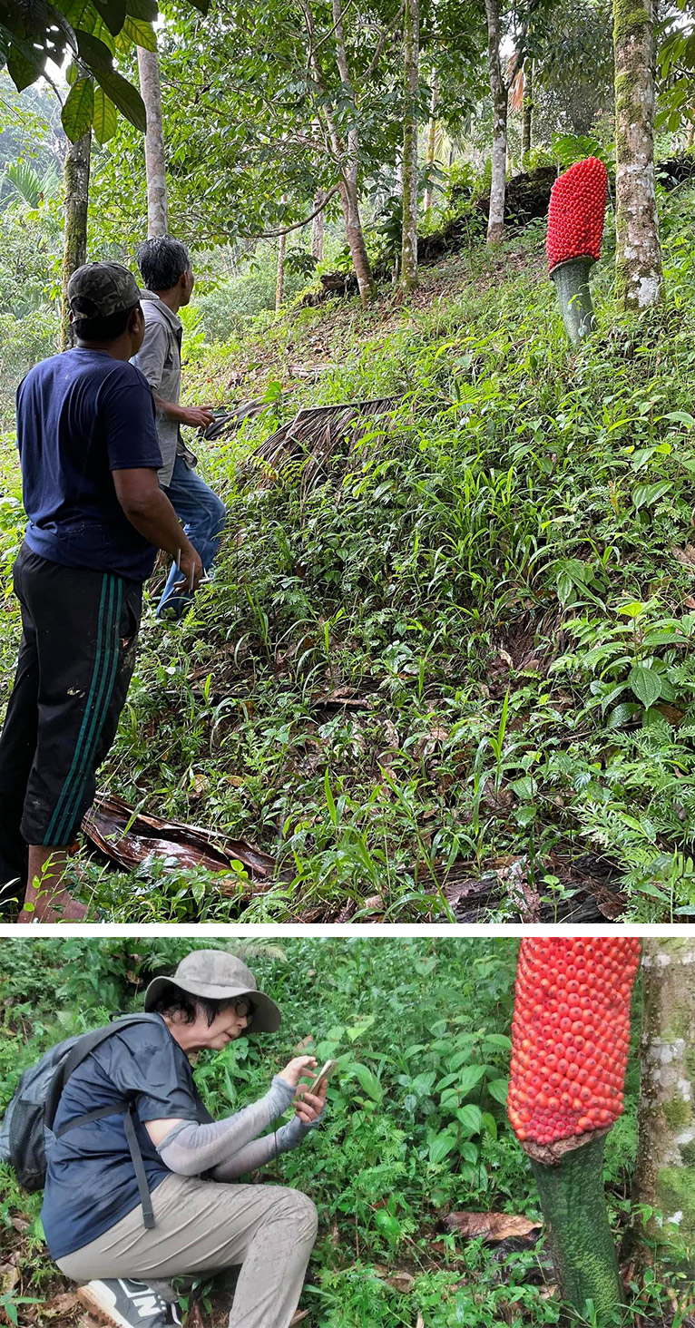
[[[125,705],[142,582],[157,548],[194,591],[201,559],[157,470],[140,291],[118,263],[68,286],[77,345],[37,364],[17,392],[28,515],[15,563],[23,637],[0,734],[0,890],[25,886],[19,922],[81,922],[62,884],[66,853]],[[5,890],[7,895],[7,890]]]

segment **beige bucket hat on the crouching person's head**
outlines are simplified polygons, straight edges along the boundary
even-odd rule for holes
[[[280,1027],[282,1016],[275,1001],[258,991],[251,969],[223,950],[194,950],[181,960],[175,973],[154,977],[145,992],[145,1009],[151,1009],[163,988],[171,984],[191,996],[211,1000],[248,996],[254,1005],[251,1032],[275,1033]]]

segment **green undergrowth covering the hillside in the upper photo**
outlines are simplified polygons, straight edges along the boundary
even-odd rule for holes
[[[190,400],[268,410],[205,449],[230,534],[181,628],[148,611],[101,782],[276,872],[221,894],[89,861],[101,916],[454,920],[488,875],[493,920],[565,916],[586,878],[609,916],[695,912],[692,202],[662,202],[663,308],[622,315],[609,254],[575,355],[534,226],[427,270],[411,301],[194,340]],[[387,428],[318,487],[242,465],[299,406],[375,396],[397,398]],[[9,680],[9,598],[1,622]]]

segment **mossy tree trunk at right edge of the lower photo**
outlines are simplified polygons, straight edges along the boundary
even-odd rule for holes
[[[642,1086],[633,1202],[663,1215],[647,1235],[695,1268],[695,938],[645,938]],[[654,1252],[639,1242],[642,1267]]]

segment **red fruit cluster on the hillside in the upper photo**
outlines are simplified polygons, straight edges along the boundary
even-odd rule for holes
[[[597,157],[577,162],[558,177],[547,208],[549,272],[570,258],[601,258],[607,187],[606,167]]]

